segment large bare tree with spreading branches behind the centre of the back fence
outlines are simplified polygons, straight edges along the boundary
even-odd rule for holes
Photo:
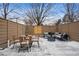
[[[31,8],[26,12],[26,15],[32,24],[42,25],[49,16],[52,4],[34,3],[30,4]]]

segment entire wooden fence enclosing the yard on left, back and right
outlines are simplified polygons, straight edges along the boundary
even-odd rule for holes
[[[58,26],[43,26],[44,32],[66,32],[71,40],[79,41],[79,22],[60,24]],[[0,19],[0,47],[7,47],[8,40],[15,35],[34,34],[34,26],[25,26],[16,22]]]

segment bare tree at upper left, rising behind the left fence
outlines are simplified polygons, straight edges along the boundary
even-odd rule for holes
[[[16,4],[10,4],[10,3],[1,3],[0,4],[0,17],[9,20],[9,19],[16,19],[20,15],[16,10],[18,9],[18,5]],[[16,17],[11,16],[11,15],[18,15]]]

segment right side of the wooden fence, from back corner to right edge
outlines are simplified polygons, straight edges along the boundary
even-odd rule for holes
[[[79,22],[61,24],[58,26],[58,32],[66,32],[71,40],[79,41]]]

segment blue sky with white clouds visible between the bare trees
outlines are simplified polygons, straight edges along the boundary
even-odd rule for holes
[[[20,17],[20,19],[18,19],[18,22],[23,23],[22,21],[23,21],[23,18],[25,17],[24,13],[30,8],[29,5],[30,5],[30,3],[10,3],[10,6],[9,6],[10,10],[14,9],[14,11],[16,11],[17,14],[16,13],[10,13],[9,17],[10,18]],[[46,20],[44,22],[44,24],[54,23],[58,19],[62,19],[63,16],[64,16],[64,13],[62,13],[62,11],[64,11],[64,7],[63,7],[62,3],[57,3],[55,5],[52,5],[50,16],[47,18],[48,20]],[[0,14],[0,16],[1,16],[1,14]]]

